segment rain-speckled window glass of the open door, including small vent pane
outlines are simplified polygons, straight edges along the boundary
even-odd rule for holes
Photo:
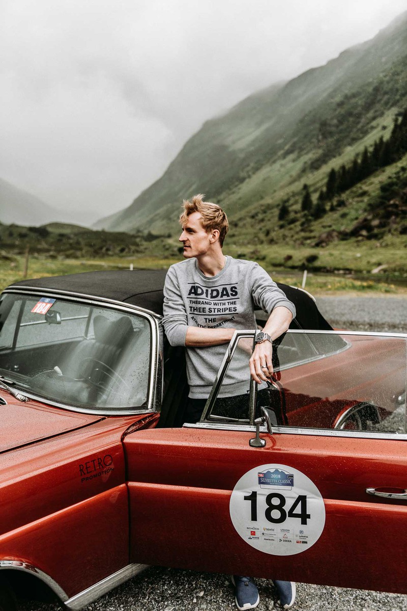
[[[242,342],[250,338],[240,339],[237,345]],[[260,415],[259,406],[265,406],[279,426],[405,433],[406,342],[407,336],[402,335],[289,331],[274,345],[275,376],[272,384],[257,393],[254,417]],[[226,392],[229,369],[236,357],[240,363],[240,352],[236,349],[230,362],[223,364],[225,377],[218,382],[218,398],[212,397],[208,420],[220,415],[232,418],[243,396],[244,418],[253,422],[247,392],[250,373],[248,367],[244,371],[243,362],[239,371],[245,377],[245,394],[233,397]],[[227,414],[218,407],[222,395],[229,396]]]

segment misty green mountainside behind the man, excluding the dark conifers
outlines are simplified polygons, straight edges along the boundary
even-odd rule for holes
[[[346,233],[350,218],[369,214],[375,181],[405,162],[378,170],[359,189],[364,196],[344,194],[346,219],[336,203],[323,219],[301,215],[302,189],[306,183],[315,201],[332,167],[350,163],[380,136],[390,136],[395,116],[407,106],[406,26],[403,13],[372,40],[206,122],[156,183],[98,227],[154,233],[170,228],[175,235],[182,199],[204,192],[225,207],[234,241],[256,243],[259,225],[270,242],[291,247],[298,241],[311,246],[330,229],[341,240],[360,239]],[[283,202],[289,215],[282,224]]]

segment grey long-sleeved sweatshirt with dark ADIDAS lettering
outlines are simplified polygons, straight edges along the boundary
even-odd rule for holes
[[[254,310],[271,313],[277,305],[284,305],[295,316],[294,304],[258,263],[226,257],[222,271],[216,276],[207,277],[199,269],[197,260],[191,258],[175,263],[168,269],[162,323],[171,346],[185,346],[189,326],[256,329]],[[208,397],[226,346],[188,346],[186,360],[190,397]],[[232,359],[234,367],[229,367],[220,397],[247,392],[249,357],[250,354],[237,354]]]

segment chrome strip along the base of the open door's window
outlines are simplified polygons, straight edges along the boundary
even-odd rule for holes
[[[201,428],[219,431],[243,431],[243,433],[256,433],[256,426],[241,425],[229,422],[185,422],[182,428]],[[260,427],[260,432],[268,434],[265,426]],[[397,439],[397,441],[407,441],[406,433],[376,433],[375,431],[345,431],[343,429],[331,428],[297,428],[295,426],[275,426],[274,434],[289,435],[313,435],[318,437],[356,437],[360,439]]]

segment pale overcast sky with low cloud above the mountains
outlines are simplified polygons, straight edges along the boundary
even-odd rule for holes
[[[206,119],[372,38],[407,0],[0,7],[0,177],[89,222],[128,206]]]

